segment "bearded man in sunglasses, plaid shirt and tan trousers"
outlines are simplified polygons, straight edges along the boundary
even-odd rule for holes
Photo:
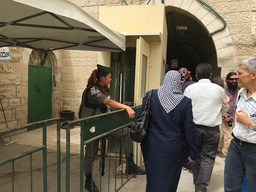
[[[235,115],[236,115],[236,98],[237,98],[237,93],[239,91],[238,87],[238,81],[236,78],[236,73],[230,72],[227,74],[226,77],[226,82],[225,88],[226,88],[226,95],[230,98],[230,102],[228,103],[230,108],[227,111],[227,113],[222,114],[222,130],[223,130],[223,135],[221,136],[220,143],[218,145],[218,152],[217,155],[219,157],[224,158],[227,155],[227,149],[230,145],[231,140],[233,139],[232,137],[232,130],[235,127]],[[232,126],[230,127],[229,124]]]

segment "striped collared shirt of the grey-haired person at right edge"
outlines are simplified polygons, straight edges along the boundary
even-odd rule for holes
[[[249,119],[253,122],[256,122],[256,117],[254,117],[256,115],[253,115],[256,113],[256,93],[254,93],[248,99],[246,94],[246,88],[242,88],[241,90],[239,90],[238,95],[240,95],[241,97],[237,102],[236,110],[244,110],[248,114]],[[249,143],[256,143],[256,131],[250,130],[246,125],[241,124],[237,121],[235,122],[233,133],[239,140]]]

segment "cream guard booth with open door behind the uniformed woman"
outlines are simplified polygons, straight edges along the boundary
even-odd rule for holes
[[[99,20],[125,35],[125,52],[99,52],[98,56],[99,64],[114,68],[111,99],[129,106],[141,105],[145,93],[160,87],[166,73],[165,6],[102,6]],[[140,145],[134,143],[135,161],[140,165],[143,158],[137,151]]]

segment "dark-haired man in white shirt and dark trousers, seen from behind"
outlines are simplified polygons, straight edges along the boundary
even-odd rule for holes
[[[201,63],[196,67],[195,76],[198,83],[189,85],[184,95],[192,99],[192,111],[197,130],[198,158],[192,163],[195,192],[207,192],[212,169],[220,141],[222,117],[229,109],[224,105],[224,89],[211,83],[212,67]]]

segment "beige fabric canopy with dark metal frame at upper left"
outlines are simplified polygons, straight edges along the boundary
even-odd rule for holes
[[[93,51],[122,51],[125,50],[125,35],[122,35],[119,32],[116,32],[115,30],[109,28],[108,26],[106,26],[105,24],[101,23],[99,20],[97,20],[95,17],[93,17],[92,15],[90,15],[89,13],[87,13],[86,11],[84,11],[83,9],[81,9],[79,6],[77,6],[75,3],[72,3],[69,0],[55,0],[58,1],[59,3],[64,3],[64,6],[72,6],[72,11],[75,12],[74,13],[74,17],[68,17],[70,14],[65,14],[65,10],[63,11],[63,14],[60,13],[58,11],[55,12],[49,12],[47,10],[48,7],[44,7],[43,9],[39,8],[40,6],[42,6],[42,3],[49,3],[49,6],[51,6],[52,1],[51,0],[44,0],[43,2],[40,2],[40,0],[34,0],[36,1],[35,3],[29,1],[29,0],[0,0],[4,2],[9,2],[10,4],[14,3],[14,5],[16,6],[26,6],[27,9],[33,9],[33,12],[38,12],[36,14],[33,15],[29,15],[26,17],[22,17],[22,18],[18,18],[12,21],[1,21],[2,19],[0,19],[0,47],[26,47],[26,48],[30,48],[30,49],[35,49],[35,50],[44,50],[45,52],[49,52],[49,51],[53,51],[53,50],[58,50],[58,49],[75,49],[75,50],[93,50]],[[57,3],[58,3],[57,2]],[[19,3],[19,4],[17,4]],[[40,4],[41,3],[41,4]],[[53,3],[54,6],[57,6],[56,2]],[[3,9],[3,8],[2,8]],[[35,11],[36,10],[36,11]],[[66,10],[68,10],[68,8],[66,8]],[[22,12],[23,10],[21,10]],[[39,12],[40,11],[40,12]],[[54,11],[54,10],[53,10]],[[77,11],[77,13],[76,13]],[[1,15],[7,14],[7,11],[5,13],[2,12]],[[62,14],[62,15],[61,15]],[[80,14],[80,15],[79,15]],[[27,14],[21,14],[20,15],[27,15]],[[32,23],[29,23],[29,21],[31,21],[31,19],[36,18],[37,21],[41,21],[41,16],[43,15],[47,15],[47,19],[52,19],[54,20],[53,23],[56,23],[56,21],[58,20],[58,25],[54,26],[54,25],[42,25],[40,24],[35,24],[35,20],[32,20]],[[50,16],[50,18],[49,18]],[[71,14],[71,16],[73,16]],[[80,17],[81,16],[81,20]],[[62,17],[62,18],[61,18]],[[84,17],[84,18],[83,18]],[[3,18],[3,17],[0,17]],[[5,17],[5,19],[8,17]],[[79,18],[79,20],[77,20],[77,18]],[[88,25],[88,23],[84,23],[84,21],[87,21],[88,19],[88,23],[90,25]],[[69,22],[69,21],[74,21],[74,22]],[[77,24],[77,25],[76,25]],[[78,26],[80,25],[80,26]],[[72,38],[68,38],[68,33],[66,33],[65,35],[67,36],[67,41],[63,40],[62,38],[49,38],[47,37],[47,35],[45,35],[45,37],[40,37],[42,36],[41,34],[38,33],[38,37],[35,37],[35,33],[38,32],[38,30],[32,35],[33,37],[24,37],[24,29],[23,32],[17,32],[15,33],[15,35],[9,35],[6,32],[12,32],[12,29],[8,29],[6,31],[1,30],[3,28],[6,28],[8,26],[12,26],[12,27],[16,27],[15,29],[18,30],[20,29],[19,27],[26,27],[26,30],[29,31],[31,29],[35,29],[35,28],[40,28],[40,29],[46,29],[46,30],[57,30],[54,31],[55,33],[60,33],[60,36],[62,35],[61,32],[64,31],[83,31],[83,32],[88,32],[81,34],[79,32],[77,32],[78,36],[80,35],[81,39],[83,39],[82,37],[86,36],[89,37],[88,39],[86,39],[86,41],[82,42],[78,42],[78,41],[70,41],[73,40]],[[81,27],[81,26],[88,26],[88,27]],[[94,29],[94,26],[97,28]],[[59,30],[61,30],[61,32],[59,32]],[[44,32],[44,33],[47,33]],[[52,32],[53,33],[53,32]],[[95,36],[93,36],[92,34],[96,34]],[[112,34],[111,34],[112,33]],[[22,35],[21,35],[22,34]],[[115,38],[115,35],[118,38],[118,41],[121,42],[121,46],[117,45],[116,42],[113,42],[113,39]],[[20,36],[20,37],[19,37]],[[56,34],[55,34],[56,36]],[[73,35],[73,37],[76,36]],[[108,37],[110,38],[108,38]],[[90,39],[91,38],[91,39]],[[111,39],[112,38],[112,39]],[[66,38],[65,38],[66,39]],[[78,40],[78,39],[76,39]],[[120,41],[121,40],[121,41]],[[61,46],[59,47],[38,47],[38,46],[33,46],[33,44],[35,44],[36,42],[38,42],[38,44],[40,44],[42,41],[47,41],[47,42],[55,42],[55,43],[62,43]],[[104,42],[105,43],[101,46],[99,44],[96,44],[97,42]],[[112,47],[108,47],[105,46],[106,45],[106,41],[111,41],[111,46]],[[108,44],[110,44],[108,42]],[[113,47],[113,45],[115,45],[115,47]],[[49,50],[45,50],[45,49],[49,49]]]

